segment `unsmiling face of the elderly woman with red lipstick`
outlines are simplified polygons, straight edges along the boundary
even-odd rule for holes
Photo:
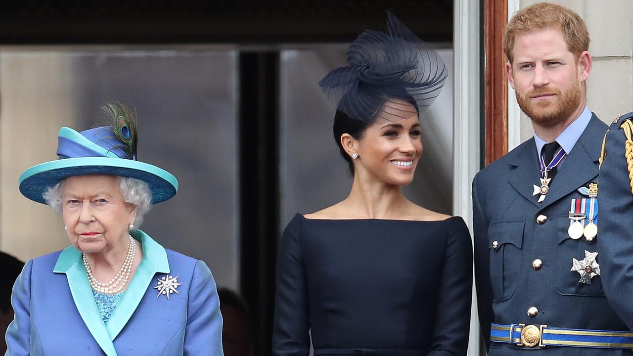
[[[99,253],[127,243],[134,205],[126,203],[113,175],[76,175],[63,183],[61,213],[77,250]],[[127,246],[127,245],[125,245]]]

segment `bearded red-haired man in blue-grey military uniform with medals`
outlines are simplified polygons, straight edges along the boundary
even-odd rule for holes
[[[599,269],[607,126],[586,105],[588,49],[580,16],[555,4],[524,8],[506,27],[506,72],[534,137],[473,181],[475,283],[491,356],[633,354]]]

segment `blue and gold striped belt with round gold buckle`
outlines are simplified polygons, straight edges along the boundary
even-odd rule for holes
[[[547,325],[493,323],[490,340],[527,348],[545,346],[633,348],[633,333],[630,331],[566,329]]]

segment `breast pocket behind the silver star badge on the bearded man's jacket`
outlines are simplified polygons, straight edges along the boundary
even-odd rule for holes
[[[600,276],[594,276],[591,284],[580,283],[580,273],[572,271],[573,258],[582,260],[585,258],[585,251],[598,252],[596,240],[588,242],[584,237],[572,239],[568,235],[569,218],[561,215],[556,222],[556,253],[553,261],[555,284],[554,289],[560,295],[570,296],[605,296],[602,289]],[[598,236],[599,239],[600,236]],[[600,263],[600,253],[596,258]]]

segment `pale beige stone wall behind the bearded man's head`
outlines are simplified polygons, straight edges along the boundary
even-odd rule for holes
[[[541,1],[521,0],[523,8]],[[587,80],[587,105],[610,124],[618,114],[633,111],[633,1],[551,0],[576,11],[589,30],[593,67]],[[512,104],[512,103],[510,103]],[[534,134],[521,113],[521,141]]]

